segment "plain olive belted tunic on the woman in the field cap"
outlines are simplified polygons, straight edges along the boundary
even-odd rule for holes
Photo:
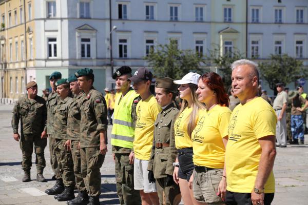
[[[174,172],[173,162],[177,158],[174,124],[179,110],[172,103],[157,116],[154,128],[153,147],[148,163],[148,170],[154,172],[155,178],[163,178]],[[157,142],[169,144],[169,147],[156,148]]]

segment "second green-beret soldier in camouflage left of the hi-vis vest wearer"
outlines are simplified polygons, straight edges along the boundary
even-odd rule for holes
[[[67,117],[67,137],[70,140],[71,153],[74,163],[74,174],[76,187],[79,190],[78,196],[67,201],[69,205],[86,204],[89,202],[85,183],[81,174],[81,158],[79,149],[80,139],[80,99],[83,96],[82,90],[78,87],[77,77],[70,76],[67,83],[70,84],[70,90],[74,94],[73,101],[68,108]]]

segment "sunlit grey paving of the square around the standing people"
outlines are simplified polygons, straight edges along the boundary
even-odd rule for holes
[[[11,128],[10,105],[0,105],[0,204],[66,204],[57,202],[53,196],[45,194],[45,190],[54,185],[50,180],[52,174],[49,164],[49,150],[45,149],[46,168],[45,183],[35,181],[35,156],[32,155],[31,181],[22,182],[22,152],[18,142],[13,140]],[[108,126],[108,136],[111,126]],[[308,201],[308,138],[305,136],[304,146],[277,148],[274,166],[276,193],[272,204],[305,205]],[[109,137],[110,143],[110,137]],[[114,162],[111,158],[111,146],[101,168],[102,194],[101,204],[119,204],[114,178]]]

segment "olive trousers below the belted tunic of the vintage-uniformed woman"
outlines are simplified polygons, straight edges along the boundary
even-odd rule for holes
[[[167,177],[156,179],[159,204],[179,204],[181,202],[181,192],[179,185],[173,183],[171,186],[166,187],[166,179]]]

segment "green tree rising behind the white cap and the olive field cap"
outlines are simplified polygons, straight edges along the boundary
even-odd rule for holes
[[[192,50],[179,50],[177,41],[170,39],[166,45],[158,45],[151,49],[145,59],[153,68],[156,77],[171,77],[180,79],[188,72],[202,71],[200,64],[203,56]]]

